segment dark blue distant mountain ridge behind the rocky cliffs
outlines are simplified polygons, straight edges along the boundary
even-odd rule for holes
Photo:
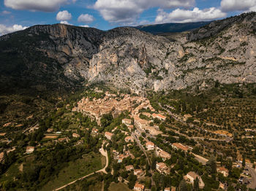
[[[180,33],[184,31],[191,31],[202,26],[206,26],[211,22],[212,21],[195,23],[164,23],[157,25],[136,26],[135,28],[139,29],[140,31],[145,31],[151,34]]]

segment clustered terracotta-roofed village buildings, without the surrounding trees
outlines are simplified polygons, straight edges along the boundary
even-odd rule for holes
[[[128,118],[124,118],[122,120],[122,125],[120,127],[116,127],[112,130],[112,132],[105,132],[105,138],[108,140],[113,140],[113,131],[117,128],[122,129],[121,127],[127,127],[128,131],[121,130],[125,134],[124,148],[121,152],[116,151],[116,149],[112,150],[113,160],[116,160],[116,163],[123,163],[123,160],[127,157],[135,159],[135,156],[132,152],[129,151],[129,147],[132,144],[138,144],[141,147],[141,151],[146,155],[147,160],[151,162],[151,158],[148,158],[148,155],[154,155],[155,157],[159,157],[162,159],[162,162],[157,162],[155,164],[155,171],[159,174],[169,175],[171,173],[171,168],[173,165],[167,165],[165,163],[166,160],[170,160],[170,153],[166,152],[164,149],[157,147],[152,141],[149,139],[156,139],[158,135],[167,136],[161,130],[159,130],[159,126],[154,123],[154,120],[165,121],[166,116],[164,112],[156,112],[155,109],[151,106],[150,102],[146,98],[141,97],[132,97],[130,95],[123,95],[123,99],[116,100],[115,94],[106,93],[105,98],[103,100],[89,101],[89,98],[83,98],[78,102],[78,106],[72,109],[73,112],[82,112],[83,114],[89,115],[92,120],[97,120],[97,123],[100,125],[100,119],[103,114],[111,113],[113,117],[116,114],[121,114],[121,112],[129,111]],[[135,105],[137,106],[135,107]],[[139,105],[138,105],[139,104]],[[220,135],[222,132],[219,133]],[[142,136],[143,135],[143,136]],[[184,153],[189,153],[195,157],[198,162],[206,165],[208,163],[208,159],[203,156],[197,155],[192,152],[193,147],[189,147],[185,144],[181,143],[173,143],[170,144],[175,150],[180,150]],[[234,167],[241,167],[239,163],[233,163]],[[138,177],[138,182],[135,183],[134,190],[145,190],[145,184],[141,184],[140,182],[145,182],[144,177],[146,176],[146,167],[140,166],[141,168],[135,168],[134,165],[125,165],[124,171],[132,172],[135,176]],[[151,169],[150,169],[151,171]],[[227,177],[229,174],[229,170],[222,166],[220,163],[217,163],[217,173],[222,174]],[[184,180],[189,184],[194,184],[195,180],[199,182],[199,188],[203,189],[205,183],[200,175],[195,173],[195,171],[189,171],[185,176]],[[121,181],[122,178],[119,177]],[[128,182],[126,179],[123,182]],[[152,182],[153,183],[153,182]],[[227,185],[219,182],[219,188],[222,190],[227,189]],[[176,190],[176,187],[166,187],[165,190]]]

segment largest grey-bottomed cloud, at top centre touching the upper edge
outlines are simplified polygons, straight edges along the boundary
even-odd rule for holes
[[[93,8],[111,23],[130,23],[136,20],[144,10],[152,7],[188,8],[194,4],[195,0],[97,0]]]

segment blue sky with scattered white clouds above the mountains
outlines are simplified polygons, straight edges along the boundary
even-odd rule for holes
[[[256,0],[0,0],[0,35],[64,23],[118,26],[218,20],[256,11]]]

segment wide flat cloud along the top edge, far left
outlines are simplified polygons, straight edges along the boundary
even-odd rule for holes
[[[4,5],[12,9],[55,12],[70,0],[4,0]]]

